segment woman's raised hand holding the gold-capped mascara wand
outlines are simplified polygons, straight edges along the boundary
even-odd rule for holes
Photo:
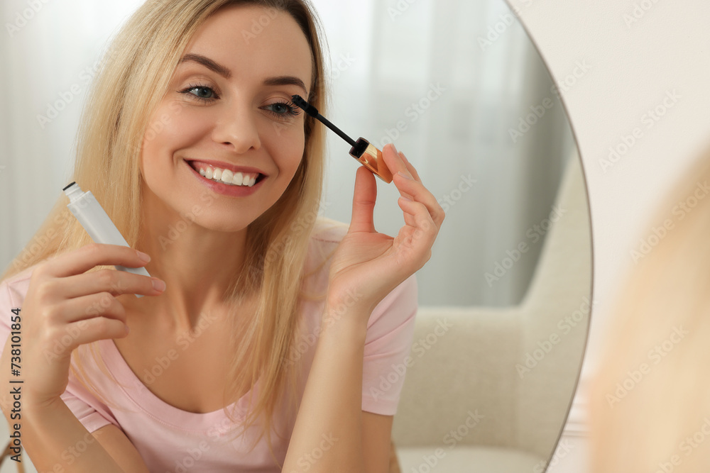
[[[356,304],[367,318],[387,294],[429,261],[444,221],[444,210],[405,155],[398,153],[394,145],[386,145],[382,155],[402,195],[398,204],[404,212],[405,226],[395,238],[376,232],[375,176],[360,167],[355,177],[350,228],[333,255],[329,272],[329,304]],[[360,322],[366,324],[367,318]]]

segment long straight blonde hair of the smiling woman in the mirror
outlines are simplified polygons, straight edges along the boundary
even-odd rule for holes
[[[149,118],[168,89],[171,74],[165,72],[175,70],[195,31],[209,16],[225,6],[241,4],[276,9],[295,19],[312,51],[313,82],[307,100],[319,109],[326,108],[322,28],[308,0],[146,1],[116,35],[92,84],[77,134],[73,175],[75,182],[97,197],[131,247],[136,247],[141,232],[139,143],[143,143]],[[314,125],[307,116],[300,166],[280,199],[249,226],[246,264],[228,291],[229,300],[234,302],[242,301],[247,294],[258,293],[258,299],[256,316],[244,332],[244,343],[234,347],[225,397],[233,399],[237,393],[250,391],[251,383],[259,380],[256,403],[244,418],[244,431],[263,414],[263,430],[251,448],[268,430],[268,447],[274,460],[269,429],[273,411],[287,386],[293,394],[297,386],[297,369],[284,368],[297,333],[299,300],[318,297],[301,291],[324,174],[324,129]],[[43,226],[11,262],[2,279],[61,252],[92,243],[66,204],[66,196],[60,194]],[[92,271],[99,269],[102,267]],[[94,345],[79,348],[90,349],[96,360]],[[78,351],[72,352],[72,373],[77,376],[80,372],[84,378]],[[100,366],[107,372],[103,360]],[[241,372],[244,367],[249,368]],[[89,383],[82,384],[102,398]],[[290,396],[290,401],[293,412],[296,400]],[[225,412],[235,421],[226,408]]]

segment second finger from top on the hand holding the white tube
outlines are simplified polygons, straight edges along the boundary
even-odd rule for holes
[[[66,299],[97,292],[109,292],[114,296],[121,294],[157,296],[163,294],[163,290],[158,290],[162,286],[160,286],[161,280],[157,277],[148,277],[117,269],[99,269],[99,271],[58,278],[56,281],[58,295],[62,295]]]

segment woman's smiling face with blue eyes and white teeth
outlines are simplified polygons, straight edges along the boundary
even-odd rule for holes
[[[148,211],[229,232],[273,206],[303,155],[305,113],[291,96],[308,96],[311,67],[307,39],[288,13],[231,6],[209,18],[143,139]]]

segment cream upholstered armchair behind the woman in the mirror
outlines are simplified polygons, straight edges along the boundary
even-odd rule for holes
[[[544,471],[572,402],[591,305],[584,177],[577,155],[568,163],[556,198],[567,213],[550,228],[520,305],[420,308],[414,343],[436,342],[410,352],[393,425],[403,473]],[[440,321],[451,328],[437,332]]]

